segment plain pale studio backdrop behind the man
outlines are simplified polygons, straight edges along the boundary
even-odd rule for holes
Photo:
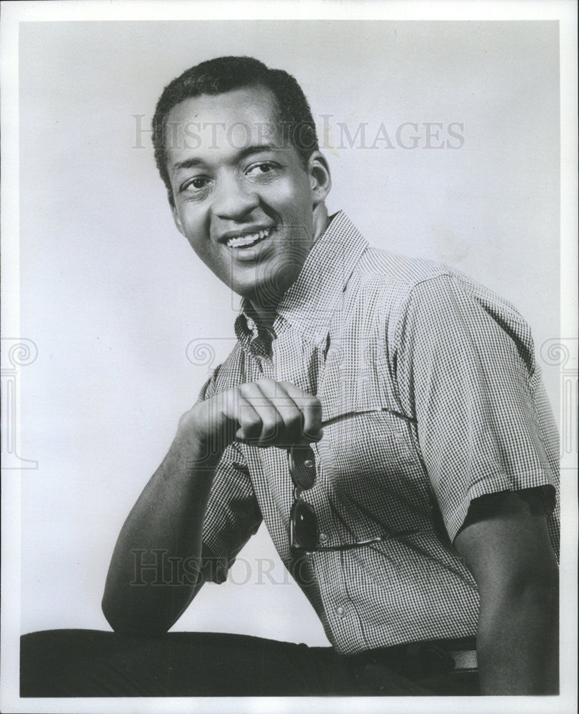
[[[135,119],[148,126],[168,81],[223,54],[286,69],[320,126],[332,115],[331,211],[510,298],[537,348],[560,335],[556,23],[22,24],[21,335],[39,350],[21,373],[21,455],[39,462],[19,476],[23,632],[108,628],[116,535],[233,345],[236,298],[174,228]],[[366,123],[371,144],[382,122],[394,149],[339,148],[339,123]],[[416,149],[396,144],[404,122]],[[429,122],[463,124],[460,149],[424,148]],[[559,369],[543,373],[558,415]],[[263,528],[231,580],[176,629],[327,643]]]

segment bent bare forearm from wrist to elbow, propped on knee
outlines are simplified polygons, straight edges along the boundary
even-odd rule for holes
[[[193,597],[219,456],[202,451],[176,438],[124,523],[103,598],[115,630],[166,631]]]

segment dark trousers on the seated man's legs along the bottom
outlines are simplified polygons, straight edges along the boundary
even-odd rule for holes
[[[21,638],[21,696],[478,694],[476,672],[416,646],[344,656],[247,635],[46,630]]]

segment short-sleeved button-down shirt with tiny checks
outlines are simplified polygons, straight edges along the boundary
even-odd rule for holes
[[[236,334],[200,398],[263,377],[317,395],[332,421],[303,498],[319,545],[383,540],[294,560],[286,451],[234,443],[203,523],[206,579],[226,579],[263,519],[332,645],[356,653],[475,634],[478,591],[452,546],[473,498],[538,487],[558,551],[558,435],[510,303],[438,263],[371,248],[338,213],[283,296],[273,341],[243,308]]]

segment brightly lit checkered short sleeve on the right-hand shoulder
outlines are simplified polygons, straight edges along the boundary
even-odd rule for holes
[[[533,341],[490,291],[452,275],[418,283],[401,310],[396,380],[453,540],[474,498],[541,487],[553,509],[553,416],[535,396]]]

